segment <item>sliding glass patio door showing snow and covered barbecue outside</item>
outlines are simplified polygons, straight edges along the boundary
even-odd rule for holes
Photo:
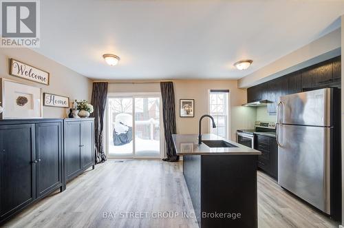
[[[161,158],[160,94],[110,94],[107,100],[109,158]]]

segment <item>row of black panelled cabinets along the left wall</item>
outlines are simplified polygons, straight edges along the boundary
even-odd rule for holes
[[[93,118],[0,121],[0,224],[56,189],[63,191],[66,180],[94,160]]]

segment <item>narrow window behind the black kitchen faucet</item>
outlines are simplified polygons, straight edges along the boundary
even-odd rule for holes
[[[211,133],[228,138],[228,96],[229,90],[211,90],[209,93],[209,114],[214,117],[216,128]]]

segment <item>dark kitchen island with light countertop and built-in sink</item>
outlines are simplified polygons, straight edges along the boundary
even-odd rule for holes
[[[214,134],[174,134],[198,225],[257,227],[257,156]]]

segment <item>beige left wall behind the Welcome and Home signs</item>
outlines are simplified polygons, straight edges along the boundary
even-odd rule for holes
[[[10,75],[9,59],[11,58],[49,72],[50,85],[34,83]],[[0,48],[0,77],[41,87],[42,94],[43,92],[50,92],[69,96],[71,102],[75,99],[90,101],[90,94],[92,93],[92,81],[90,79],[28,48]],[[43,117],[45,118],[65,116],[67,116],[67,109],[65,108],[43,106]]]

